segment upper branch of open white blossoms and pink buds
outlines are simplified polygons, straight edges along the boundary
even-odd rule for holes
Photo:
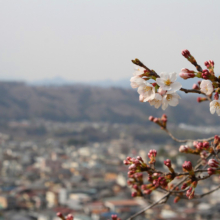
[[[154,70],[144,66],[138,59],[132,60],[136,67],[130,82],[132,88],[137,88],[139,100],[141,102],[149,102],[155,108],[161,106],[165,110],[169,105],[178,105],[180,96],[177,91],[198,93],[206,96],[198,97],[198,102],[209,100],[211,114],[216,112],[220,116],[220,78],[215,76],[214,61],[205,61],[206,69],[202,69],[188,50],[183,50],[182,55],[196,67],[197,71],[183,68],[179,76],[185,80],[194,77],[202,79],[202,81],[198,81],[198,85],[193,85],[193,90],[182,88],[182,85],[176,82],[176,73],[163,72],[158,75]],[[214,100],[211,100],[213,93],[215,93]]]

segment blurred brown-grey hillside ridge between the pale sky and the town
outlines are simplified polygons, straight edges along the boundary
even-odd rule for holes
[[[37,87],[24,83],[0,82],[1,121],[43,118],[52,121],[106,121],[146,123],[149,115],[160,116],[147,103],[138,101],[132,89],[89,86]],[[165,111],[173,123],[218,125],[209,104],[184,98],[177,107]]]

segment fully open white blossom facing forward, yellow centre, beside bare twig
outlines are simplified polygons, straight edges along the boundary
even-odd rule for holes
[[[157,78],[156,82],[161,89],[176,92],[182,87],[179,82],[175,82],[176,79],[176,73],[161,73],[160,78]]]

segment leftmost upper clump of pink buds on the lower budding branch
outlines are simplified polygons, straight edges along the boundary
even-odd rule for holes
[[[133,177],[135,173],[147,171],[149,168],[149,166],[143,161],[143,159],[140,156],[137,156],[136,158],[127,157],[126,160],[124,160],[124,164],[130,165],[128,168],[129,177]]]

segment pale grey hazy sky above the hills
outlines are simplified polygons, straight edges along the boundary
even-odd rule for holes
[[[208,59],[220,72],[219,0],[0,0],[0,79],[129,78]]]

